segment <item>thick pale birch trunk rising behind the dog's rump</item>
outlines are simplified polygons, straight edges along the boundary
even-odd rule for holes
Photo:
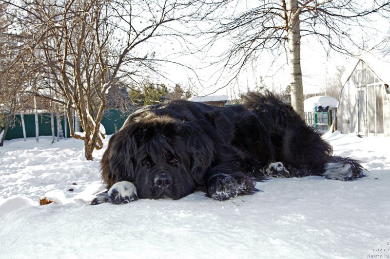
[[[287,0],[287,57],[290,67],[291,105],[304,118],[299,15],[300,8],[298,7],[298,1]]]

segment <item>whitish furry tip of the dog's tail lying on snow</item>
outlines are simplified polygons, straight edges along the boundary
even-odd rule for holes
[[[352,181],[365,176],[367,170],[360,163],[349,157],[332,156],[324,166],[323,175],[328,179]]]

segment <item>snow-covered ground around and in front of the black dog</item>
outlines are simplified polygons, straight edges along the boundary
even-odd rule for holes
[[[225,202],[196,192],[96,206],[103,150],[86,161],[79,140],[5,141],[0,258],[390,258],[390,139],[325,137],[368,176],[271,179]],[[47,192],[60,204],[39,206]]]

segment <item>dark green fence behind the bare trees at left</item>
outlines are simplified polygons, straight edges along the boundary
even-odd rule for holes
[[[104,112],[104,117],[101,120],[106,129],[106,134],[111,135],[117,132],[125,122],[128,114],[123,114],[123,112],[118,110],[106,110]],[[24,126],[26,129],[26,137],[35,137],[35,115],[34,114],[24,114]],[[51,118],[50,113],[38,114],[38,129],[39,136],[51,136]],[[65,136],[65,121],[63,114],[60,116],[60,123],[62,129],[62,136]],[[69,123],[66,122],[66,133],[67,137],[70,137]],[[2,129],[1,129],[2,130]],[[57,117],[54,116],[54,134],[57,136]],[[5,140],[11,140],[16,138],[23,138],[23,129],[21,127],[21,118],[20,115],[15,116],[15,123],[8,129],[7,134],[5,135]]]

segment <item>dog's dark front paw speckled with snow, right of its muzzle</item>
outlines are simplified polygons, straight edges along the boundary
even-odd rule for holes
[[[208,180],[206,194],[214,200],[225,201],[232,199],[238,193],[238,181],[228,174],[215,174]]]

